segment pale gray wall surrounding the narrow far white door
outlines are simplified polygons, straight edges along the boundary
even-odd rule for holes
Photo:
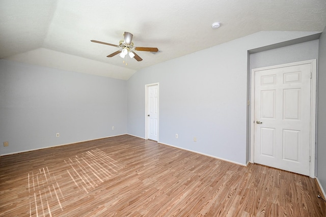
[[[248,50],[312,34],[259,32],[136,72],[128,133],[145,137],[145,84],[159,82],[159,142],[246,164]]]

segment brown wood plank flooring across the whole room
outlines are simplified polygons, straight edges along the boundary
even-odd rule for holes
[[[0,159],[1,216],[326,216],[314,179],[129,135]]]

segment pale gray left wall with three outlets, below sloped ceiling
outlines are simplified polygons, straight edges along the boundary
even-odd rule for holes
[[[126,99],[123,80],[0,60],[0,154],[125,134]]]

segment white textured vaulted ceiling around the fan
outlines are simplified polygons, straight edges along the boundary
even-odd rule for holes
[[[212,29],[213,22],[221,27]],[[325,0],[0,0],[0,58],[127,80],[135,71],[263,30],[321,32]],[[123,33],[143,61],[123,65]]]

